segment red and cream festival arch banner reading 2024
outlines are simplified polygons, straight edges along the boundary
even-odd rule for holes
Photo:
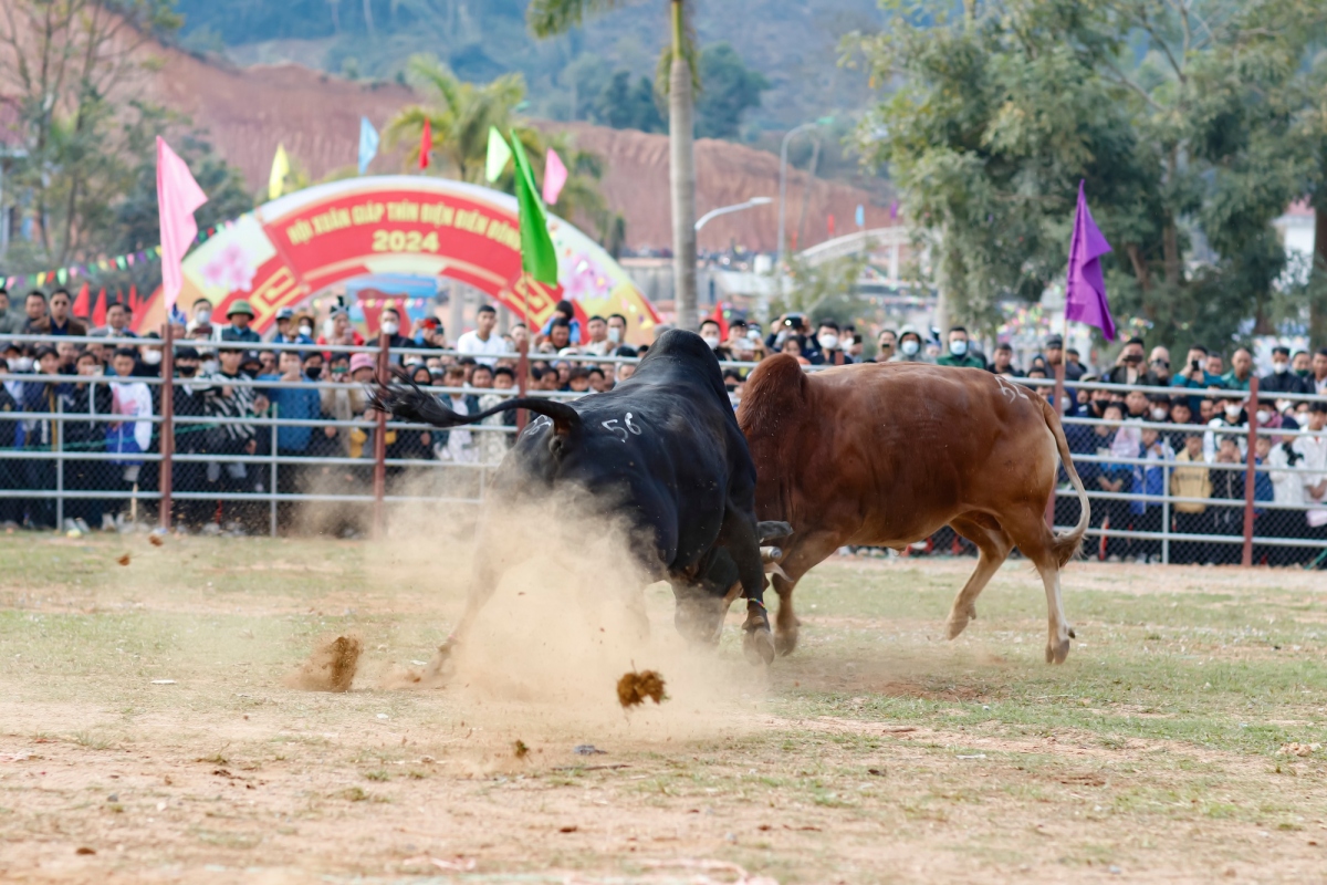
[[[381,175],[330,182],[265,203],[216,231],[184,259],[179,305],[199,299],[218,316],[236,300],[265,330],[276,312],[344,280],[407,273],[458,280],[543,325],[561,299],[580,316],[621,313],[628,340],[649,341],[660,316],[630,277],[571,223],[548,216],[556,287],[522,275],[516,199],[443,178]],[[165,320],[158,289],[135,326]]]

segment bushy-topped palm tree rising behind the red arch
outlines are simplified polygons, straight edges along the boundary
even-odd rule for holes
[[[421,93],[434,101],[402,109],[384,133],[387,147],[409,143],[406,163],[419,162],[419,135],[423,121],[433,129],[434,153],[441,155],[443,174],[463,182],[478,183],[484,174],[488,151],[488,127],[499,131],[511,127],[516,105],[525,97],[525,78],[504,74],[491,84],[476,86],[451,73],[433,56],[413,56],[407,76]]]

